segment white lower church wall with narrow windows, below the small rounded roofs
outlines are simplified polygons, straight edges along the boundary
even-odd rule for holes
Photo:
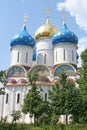
[[[40,89],[40,87],[38,87]],[[7,116],[7,121],[12,122],[11,113],[13,110],[22,109],[23,99],[27,92],[31,89],[30,86],[8,86],[5,88],[5,95],[0,95],[0,118],[5,118]],[[48,90],[49,86],[42,86],[41,96],[45,100],[45,93],[47,93],[48,98]],[[8,102],[6,103],[6,94],[8,93]],[[17,103],[17,94],[20,94],[20,101]],[[23,114],[18,122],[23,123],[33,123],[34,118],[29,118],[29,114]]]

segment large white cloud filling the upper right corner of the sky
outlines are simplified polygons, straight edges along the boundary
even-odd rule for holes
[[[65,0],[57,4],[57,9],[65,9],[75,17],[79,27],[87,32],[87,0]]]

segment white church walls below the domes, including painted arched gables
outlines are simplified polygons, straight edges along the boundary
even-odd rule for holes
[[[7,69],[6,93],[0,95],[0,118],[7,116],[8,122],[12,122],[11,113],[13,110],[22,109],[24,96],[31,89],[31,86],[27,85],[27,72],[31,73],[31,70],[33,71],[36,68],[39,77],[41,77],[38,80],[37,87],[39,89],[39,86],[41,86],[43,89],[41,95],[44,100],[48,100],[48,91],[58,80],[60,70],[67,67],[69,69],[68,78],[75,82],[77,67],[76,44],[66,42],[53,45],[52,37],[49,36],[36,41],[36,60],[32,60],[32,55],[32,45],[18,45],[17,43],[11,46],[11,66]],[[64,118],[62,118],[63,120]],[[29,118],[29,114],[24,115],[22,113],[19,122],[32,123],[34,118]]]

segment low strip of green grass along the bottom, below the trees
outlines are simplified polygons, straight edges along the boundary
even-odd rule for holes
[[[28,124],[9,124],[1,123],[0,130],[87,130],[87,124],[73,124],[73,125],[42,125],[40,127],[34,127],[34,125]]]

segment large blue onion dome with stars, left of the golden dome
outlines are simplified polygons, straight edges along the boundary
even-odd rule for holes
[[[32,48],[35,46],[35,40],[28,33],[25,24],[24,24],[22,30],[11,39],[10,45],[11,45],[11,47],[23,45],[23,46],[30,46]]]

